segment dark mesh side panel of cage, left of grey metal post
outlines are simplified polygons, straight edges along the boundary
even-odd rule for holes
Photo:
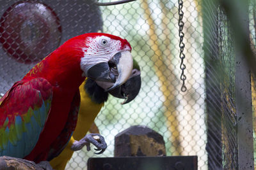
[[[204,1],[207,153],[209,169],[237,169],[235,54],[220,4]]]

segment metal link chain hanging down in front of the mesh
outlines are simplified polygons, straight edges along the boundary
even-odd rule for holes
[[[184,22],[182,21],[182,18],[184,16],[184,12],[182,11],[182,7],[183,7],[183,1],[179,0],[179,37],[180,37],[180,69],[181,69],[181,75],[180,75],[180,80],[182,80],[182,86],[181,86],[181,91],[182,92],[186,92],[187,87],[185,85],[185,80],[187,79],[187,77],[184,74],[184,69],[186,69],[186,65],[184,64],[184,59],[185,59],[185,54],[184,54],[184,47],[185,44],[183,43],[183,38],[184,38],[184,32],[182,32],[183,30],[183,26],[184,26]]]

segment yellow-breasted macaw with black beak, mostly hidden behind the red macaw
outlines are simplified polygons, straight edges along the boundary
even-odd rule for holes
[[[108,100],[108,93],[112,96],[125,99],[122,104],[129,103],[138,95],[141,87],[140,66],[138,66],[138,62],[133,60],[132,74],[123,85],[106,92],[112,85],[113,83],[97,82],[86,78],[79,87],[81,104],[77,118],[77,126],[66,148],[58,157],[51,160],[50,164],[53,169],[65,169],[68,160],[70,160],[74,152],[70,148],[72,143],[76,140],[81,140],[89,131],[95,117],[97,117],[102,106],[104,106],[104,103]],[[104,150],[102,150],[102,152],[103,151]]]

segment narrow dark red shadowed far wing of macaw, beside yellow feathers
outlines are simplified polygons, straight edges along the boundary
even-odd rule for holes
[[[48,158],[47,160],[50,161],[54,159],[54,157],[57,157],[60,155],[60,153],[64,150],[64,148],[67,146],[68,141],[70,140],[73,132],[76,129],[76,124],[77,124],[77,115],[79,112],[79,106],[80,106],[80,92],[77,90],[73,101],[70,106],[70,111],[68,114],[68,119],[65,124],[65,127],[61,131],[60,135],[54,143],[50,146],[50,151],[48,153]]]

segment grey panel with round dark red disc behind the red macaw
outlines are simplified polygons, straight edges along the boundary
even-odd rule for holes
[[[92,1],[0,1],[0,4],[2,94],[68,39],[84,34],[84,30],[102,29],[99,7]]]

